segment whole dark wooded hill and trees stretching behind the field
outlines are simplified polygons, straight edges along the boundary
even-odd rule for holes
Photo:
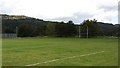
[[[86,37],[87,27],[89,37],[118,36],[120,24],[97,22],[97,20],[85,20],[81,25],[73,21],[53,22],[44,21],[24,15],[2,15],[2,33],[16,33],[19,37],[57,36],[57,37]],[[80,29],[79,29],[80,26]],[[79,32],[80,31],[80,32]]]

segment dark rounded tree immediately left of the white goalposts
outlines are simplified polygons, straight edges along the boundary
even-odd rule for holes
[[[56,25],[56,34],[60,37],[71,37],[76,35],[76,26],[72,21],[68,21],[67,23],[58,23]]]

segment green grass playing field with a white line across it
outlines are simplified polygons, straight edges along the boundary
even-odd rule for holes
[[[117,66],[115,38],[3,39],[3,66]]]

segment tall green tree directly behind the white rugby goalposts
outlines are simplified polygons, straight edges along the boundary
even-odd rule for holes
[[[95,37],[99,32],[99,26],[97,24],[97,20],[84,20],[81,26],[81,37]]]

